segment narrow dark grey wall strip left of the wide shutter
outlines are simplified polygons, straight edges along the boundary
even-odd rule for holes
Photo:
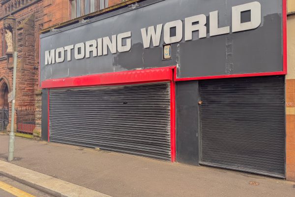
[[[41,139],[48,140],[48,89],[42,89]]]

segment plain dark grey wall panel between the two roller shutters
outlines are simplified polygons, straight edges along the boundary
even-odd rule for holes
[[[178,82],[176,95],[177,162],[199,165],[199,82]]]

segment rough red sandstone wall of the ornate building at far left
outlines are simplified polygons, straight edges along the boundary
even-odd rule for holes
[[[18,62],[16,76],[16,107],[34,107],[35,106],[35,90],[38,89],[39,78],[39,31],[43,24],[43,1],[25,0],[8,1],[0,7],[0,29],[3,29],[4,18],[11,14],[16,24],[14,32],[16,33]],[[17,3],[11,9],[11,3]],[[24,6],[28,6],[24,8]],[[9,9],[7,9],[10,7]],[[3,18],[4,17],[4,18]],[[0,50],[2,50],[0,44]],[[7,60],[0,58],[0,80],[7,79],[9,91],[12,90],[12,73],[13,69],[7,67]],[[11,109],[11,103],[9,103]],[[10,129],[8,125],[7,129]]]

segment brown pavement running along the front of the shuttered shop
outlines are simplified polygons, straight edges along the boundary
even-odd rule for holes
[[[7,160],[8,138],[8,135],[0,135],[2,161]],[[21,137],[16,137],[15,160],[10,164],[112,197],[295,195],[295,183],[282,179],[206,166],[168,163]]]

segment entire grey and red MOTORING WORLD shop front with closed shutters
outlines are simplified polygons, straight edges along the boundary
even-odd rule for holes
[[[285,178],[285,12],[142,0],[44,32],[42,138]]]

